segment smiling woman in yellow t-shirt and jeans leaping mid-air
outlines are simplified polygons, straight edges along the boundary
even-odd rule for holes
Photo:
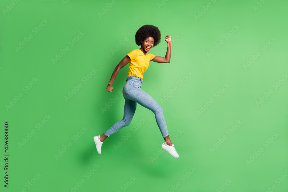
[[[94,137],[94,142],[96,144],[96,149],[99,154],[101,154],[101,147],[103,141],[109,137],[111,134],[117,132],[121,128],[128,126],[131,123],[131,120],[134,116],[137,103],[150,109],[155,114],[157,125],[160,129],[160,132],[164,138],[164,143],[162,148],[168,151],[173,157],[178,158],[179,155],[172,144],[166,122],[163,116],[163,110],[158,105],[158,103],[149,96],[146,92],[141,90],[143,82],[143,73],[148,68],[149,62],[152,60],[158,63],[169,63],[171,57],[171,36],[167,35],[165,41],[168,43],[167,52],[165,57],[155,56],[151,53],[148,53],[149,50],[160,43],[161,34],[158,27],[153,25],[143,25],[138,29],[135,34],[135,42],[137,45],[141,45],[140,49],[132,50],[128,53],[122,61],[116,66],[115,70],[112,73],[109,84],[107,85],[106,90],[112,92],[112,84],[118,75],[118,72],[126,64],[129,64],[128,78],[126,79],[126,84],[122,90],[123,97],[125,99],[124,105],[124,116],[121,121],[115,123],[110,129],[104,132],[102,135]]]

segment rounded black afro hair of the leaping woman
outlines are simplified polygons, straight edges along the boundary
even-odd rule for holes
[[[135,43],[139,46],[142,45],[141,41],[144,41],[146,37],[154,38],[153,47],[155,47],[161,41],[160,30],[154,25],[143,25],[135,34]]]

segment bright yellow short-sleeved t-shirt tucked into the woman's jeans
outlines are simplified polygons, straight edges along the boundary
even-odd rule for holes
[[[144,53],[140,49],[134,49],[127,54],[131,61],[129,64],[128,77],[135,76],[143,79],[143,73],[148,68],[149,62],[155,57],[151,53]]]

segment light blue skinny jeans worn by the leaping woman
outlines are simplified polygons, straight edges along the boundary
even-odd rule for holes
[[[160,107],[160,105],[158,105],[158,103],[151,96],[141,90],[142,81],[143,80],[141,78],[135,76],[130,76],[126,79],[126,84],[122,90],[123,97],[125,99],[124,116],[121,121],[115,123],[104,133],[108,137],[121,128],[130,125],[137,107],[137,103],[153,111],[163,138],[169,135],[162,107]]]

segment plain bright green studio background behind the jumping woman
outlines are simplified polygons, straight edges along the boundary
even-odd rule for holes
[[[256,0],[16,2],[11,9],[7,6],[12,1],[0,3],[1,154],[10,154],[8,189],[3,187],[4,160],[0,161],[1,191],[74,191],[81,180],[75,191],[288,190],[288,81],[281,80],[288,72],[287,1],[263,0],[259,9],[253,8]],[[99,15],[102,11],[105,14]],[[41,22],[41,29],[33,33]],[[106,86],[122,58],[140,48],[134,35],[144,24],[161,31],[161,43],[149,51],[156,56],[165,56],[164,38],[172,37],[170,63],[150,62],[141,89],[163,108],[178,159],[160,150],[164,140],[155,116],[140,105],[132,123],[104,141],[101,155],[93,141],[123,118],[121,90],[128,65],[120,70],[111,93]],[[234,25],[239,28],[231,31]],[[85,34],[71,46],[69,41],[79,31]],[[29,34],[33,38],[16,50]],[[276,39],[272,44],[270,37]],[[221,40],[224,44],[207,56]],[[263,52],[266,43],[270,46]],[[66,46],[69,50],[53,63]],[[261,55],[245,70],[243,65],[257,52]],[[97,71],[89,76],[92,69]],[[189,78],[187,71],[193,73]],[[33,78],[38,81],[32,85]],[[79,83],[82,87],[65,99]],[[223,92],[224,83],[229,87]],[[269,97],[257,105],[269,90]],[[22,97],[16,100],[19,93]],[[205,106],[211,98],[214,102]],[[12,107],[7,107],[10,101]],[[106,104],[110,106],[104,111]],[[206,109],[197,113],[201,107]],[[140,126],[141,118],[146,120]],[[241,125],[228,134],[236,121]],[[124,140],[127,134],[131,136]],[[69,142],[65,151],[63,145]],[[120,142],[122,146],[115,148]],[[214,144],[219,146],[211,152]],[[87,172],[93,174],[88,177]],[[33,180],[38,173],[41,176]]]

